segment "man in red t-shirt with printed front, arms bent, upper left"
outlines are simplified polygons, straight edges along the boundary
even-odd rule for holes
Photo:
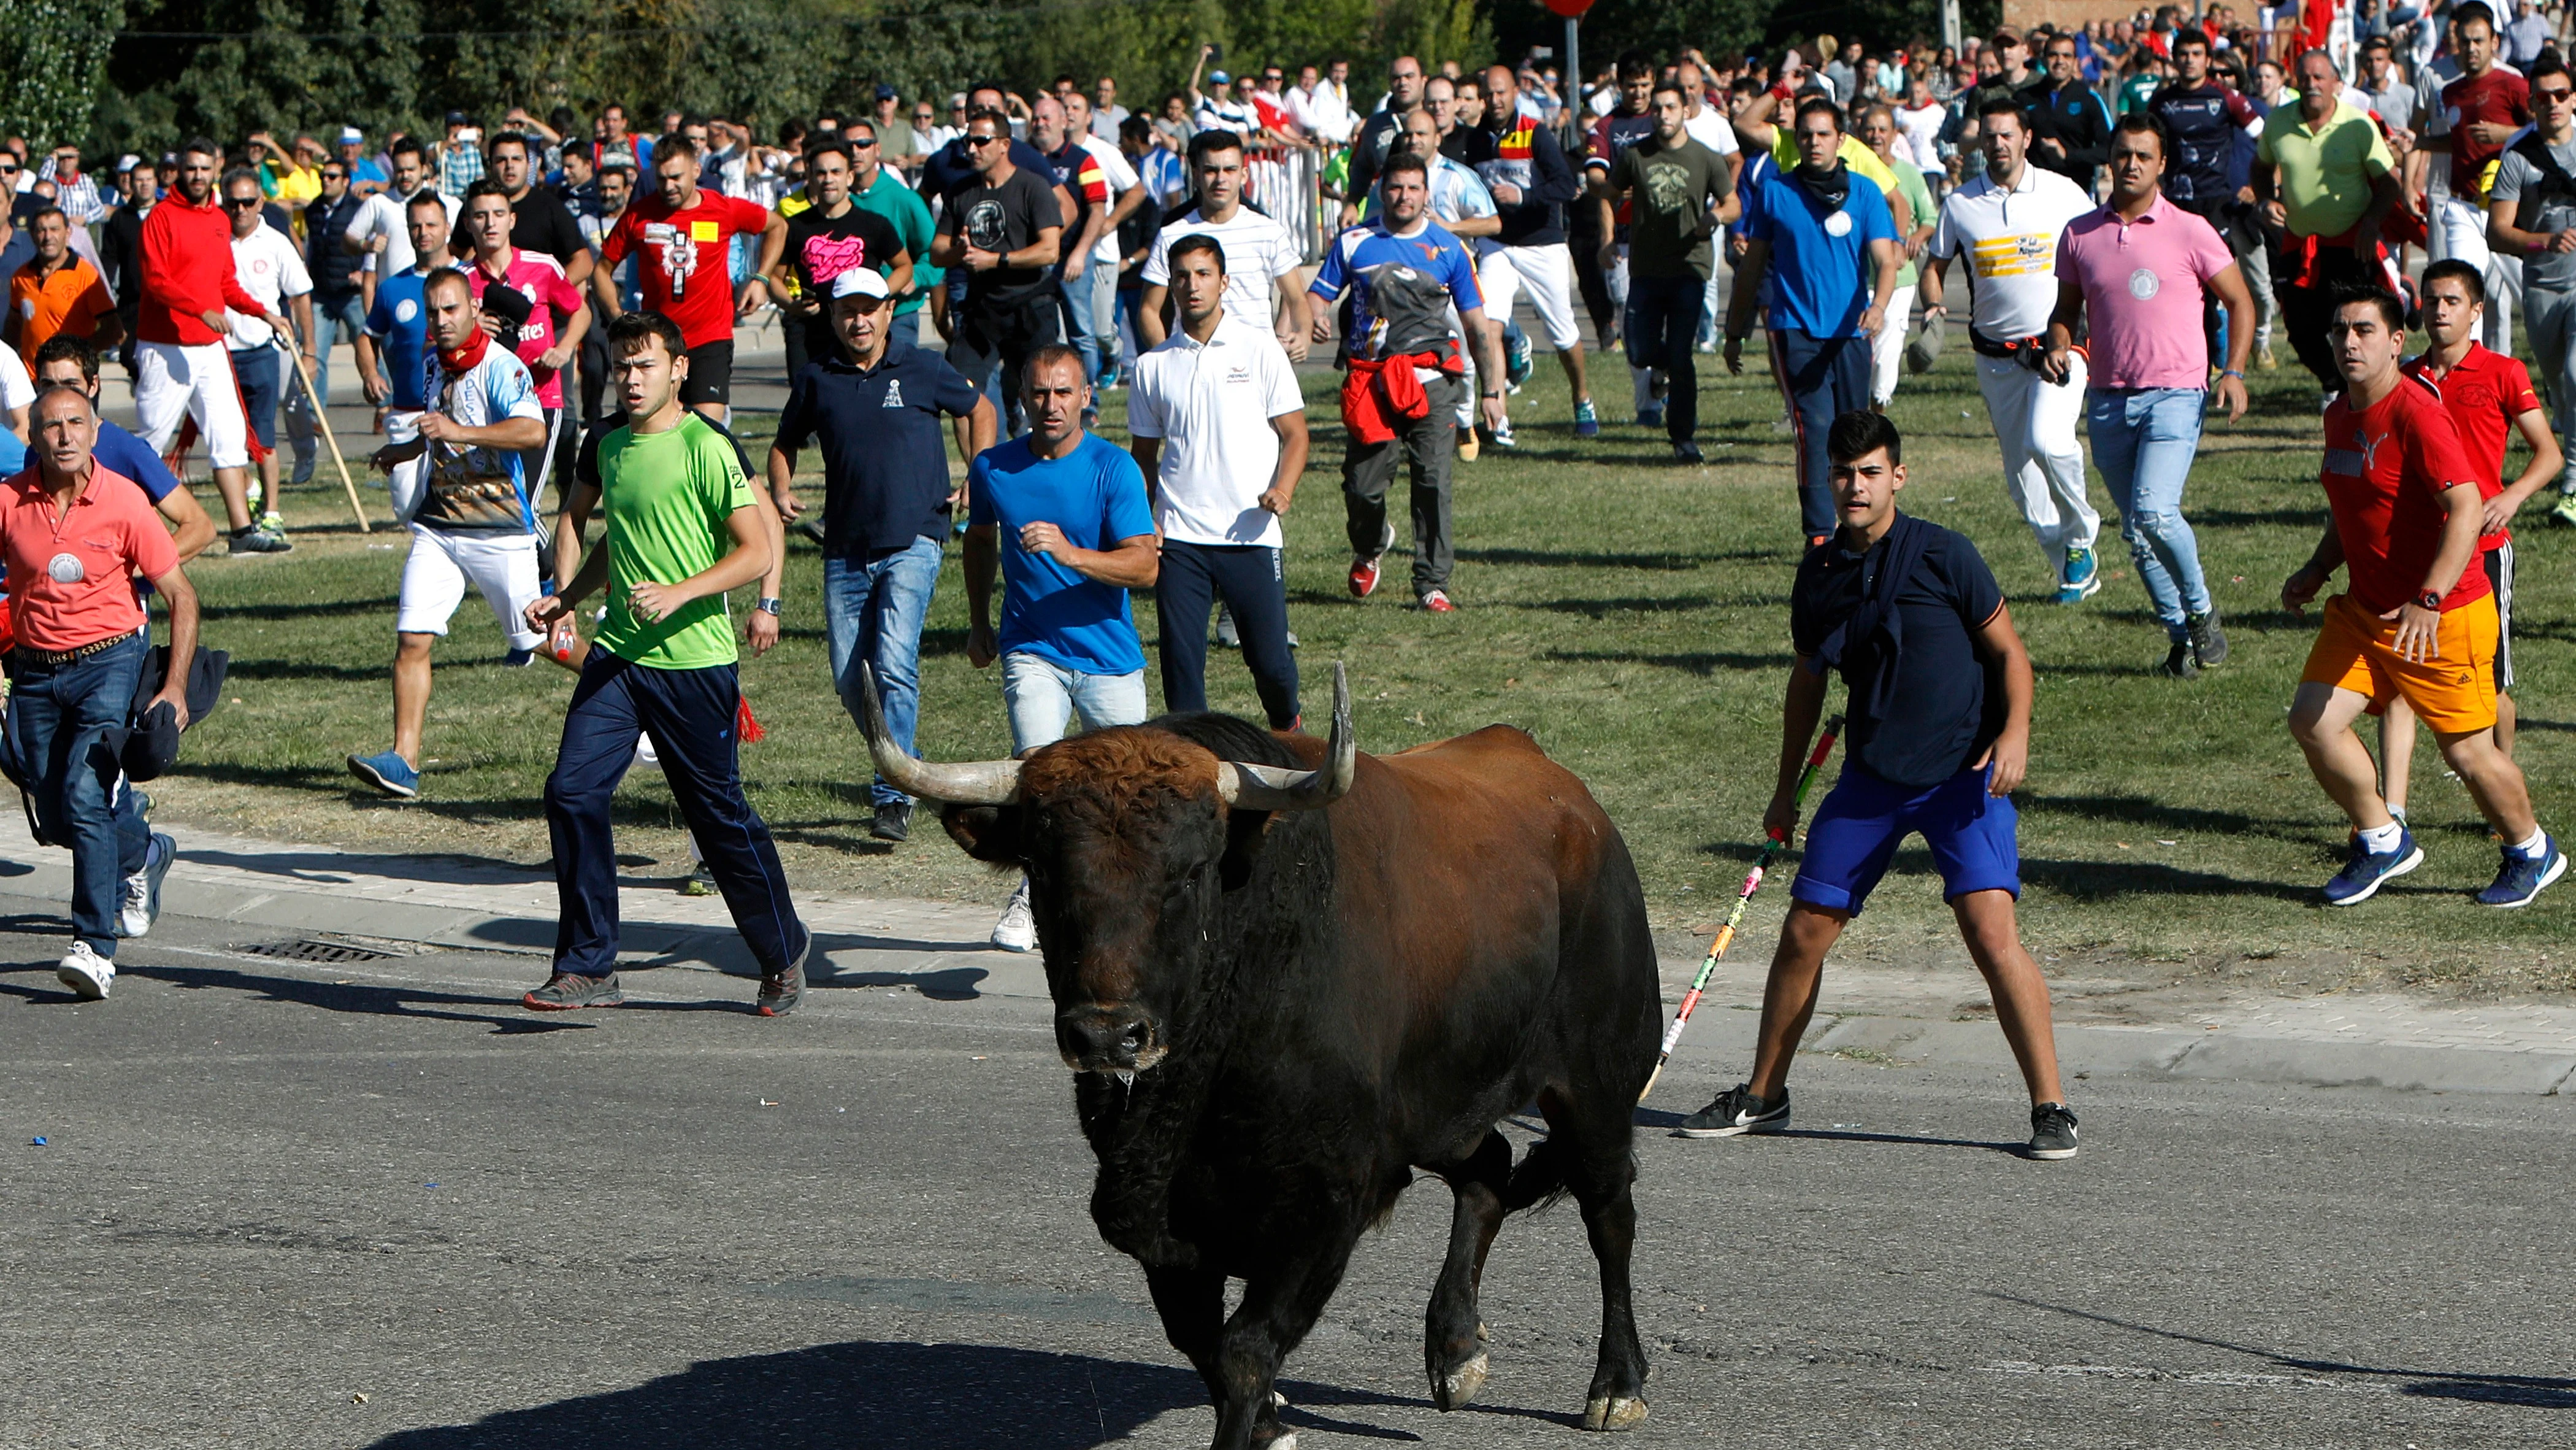
[[[590,288],[600,299],[603,322],[616,322],[623,312],[618,263],[634,252],[644,312],[677,322],[680,343],[688,348],[680,402],[724,422],[734,394],[734,317],[760,306],[765,296],[760,278],[734,288],[734,234],[762,237],[775,227],[786,245],[788,224],[757,201],[698,191],[698,147],[688,137],[662,137],[652,152],[652,170],[659,191],[618,216],[600,242],[600,268],[590,273]]]

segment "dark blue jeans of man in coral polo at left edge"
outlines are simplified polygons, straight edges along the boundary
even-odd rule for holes
[[[36,798],[36,829],[72,847],[72,935],[116,956],[126,876],[144,868],[152,827],[100,734],[126,724],[152,644],[131,634],[88,659],[10,659],[8,749]]]

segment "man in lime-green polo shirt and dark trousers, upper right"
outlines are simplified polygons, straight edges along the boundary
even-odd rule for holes
[[[2254,144],[2254,193],[2287,232],[2272,286],[2290,345],[2326,397],[2344,391],[2334,343],[2326,340],[2336,288],[2391,286],[2380,219],[2398,203],[2396,170],[2378,121],[2344,100],[2334,59],[2326,52],[2298,57],[2298,106],[2280,106],[2264,118]]]

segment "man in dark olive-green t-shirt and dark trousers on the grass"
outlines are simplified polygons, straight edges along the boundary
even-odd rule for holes
[[[1700,461],[1690,433],[1700,425],[1700,368],[1692,345],[1708,301],[1708,237],[1736,219],[1736,183],[1718,152],[1682,126],[1690,98],[1674,82],[1654,88],[1654,137],[1620,152],[1607,201],[1628,198],[1628,340],[1631,368],[1667,379],[1664,435],[1682,464]]]

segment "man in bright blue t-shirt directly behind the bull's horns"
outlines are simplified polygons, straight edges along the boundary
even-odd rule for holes
[[[1092,384],[1082,353],[1051,343],[1023,368],[1028,438],[976,453],[966,469],[966,659],[1002,659],[1010,749],[1028,755],[1082,729],[1144,724],[1144,641],[1128,590],[1162,572],[1154,505],[1126,448],[1082,430]],[[1010,546],[1002,546],[1002,538]],[[1002,569],[1002,626],[992,623],[992,574]],[[1033,950],[1028,881],[1012,891],[992,945]]]

